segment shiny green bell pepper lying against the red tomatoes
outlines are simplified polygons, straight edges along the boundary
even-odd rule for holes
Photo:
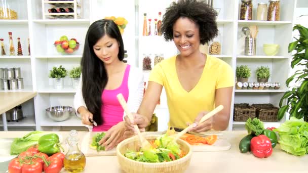
[[[60,152],[60,148],[64,151],[60,145],[59,136],[57,134],[43,135],[40,139],[38,139],[38,151],[47,155]]]

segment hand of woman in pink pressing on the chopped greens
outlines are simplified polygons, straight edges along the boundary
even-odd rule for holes
[[[98,144],[105,146],[105,150],[110,150],[122,139],[125,131],[125,122],[121,121],[117,125],[113,125]]]

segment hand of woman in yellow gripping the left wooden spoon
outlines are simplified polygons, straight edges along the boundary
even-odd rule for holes
[[[129,119],[127,115],[124,117],[126,128],[134,131],[134,125],[138,125],[140,132],[144,132],[145,127],[149,125],[150,121],[143,115],[137,113],[132,113],[132,115],[133,115],[132,121]]]

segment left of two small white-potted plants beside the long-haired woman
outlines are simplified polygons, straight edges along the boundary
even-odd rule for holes
[[[62,65],[60,67],[53,67],[49,71],[49,77],[53,79],[55,89],[63,89],[64,77],[67,75],[67,71]]]

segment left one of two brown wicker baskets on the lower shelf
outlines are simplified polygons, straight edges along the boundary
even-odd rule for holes
[[[248,118],[256,117],[256,108],[249,106],[248,103],[234,104],[234,121],[246,122]]]

